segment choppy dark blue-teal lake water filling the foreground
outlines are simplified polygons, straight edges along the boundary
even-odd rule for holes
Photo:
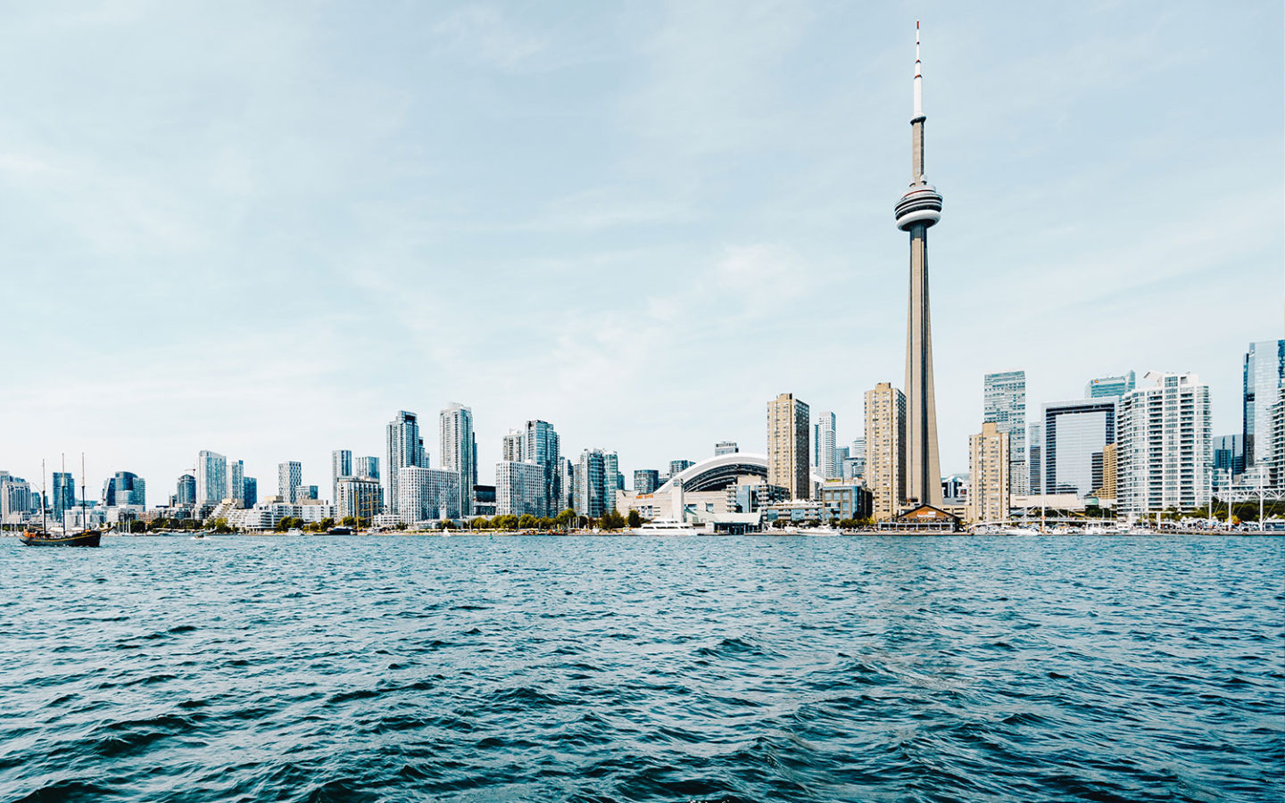
[[[0,800],[1279,800],[1280,538],[0,538]]]

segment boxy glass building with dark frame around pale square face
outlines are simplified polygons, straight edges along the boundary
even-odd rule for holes
[[[1043,406],[1043,493],[1083,499],[1103,487],[1103,448],[1115,442],[1115,397]]]

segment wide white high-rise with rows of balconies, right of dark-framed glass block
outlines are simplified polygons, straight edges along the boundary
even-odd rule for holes
[[[1209,385],[1195,374],[1149,373],[1119,400],[1118,515],[1145,516],[1209,504],[1213,437]]]

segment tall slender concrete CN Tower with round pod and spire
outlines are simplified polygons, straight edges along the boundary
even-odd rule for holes
[[[933,329],[928,315],[928,229],[942,218],[942,197],[924,180],[924,77],[915,23],[915,113],[910,118],[910,189],[897,202],[897,227],[910,233],[910,310],[906,316],[907,504],[942,505],[933,397]]]

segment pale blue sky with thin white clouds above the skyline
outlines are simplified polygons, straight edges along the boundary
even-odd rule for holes
[[[1279,0],[113,3],[0,10],[0,469],[260,495],[474,411],[627,478],[901,387],[923,21],[943,473],[982,376],[1194,371],[1285,329]]]

